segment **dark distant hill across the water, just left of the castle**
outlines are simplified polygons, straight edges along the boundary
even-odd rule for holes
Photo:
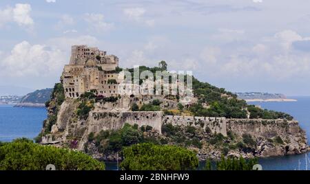
[[[25,95],[16,106],[45,106],[53,89],[41,89]]]

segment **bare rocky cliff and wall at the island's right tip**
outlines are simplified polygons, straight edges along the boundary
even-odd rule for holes
[[[307,152],[307,136],[297,121],[285,119],[229,119],[227,128],[239,137],[247,133],[257,143],[256,157]]]

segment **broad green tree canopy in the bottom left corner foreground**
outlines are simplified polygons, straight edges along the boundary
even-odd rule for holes
[[[0,170],[105,170],[105,164],[82,152],[54,146],[41,146],[28,139],[0,145]]]

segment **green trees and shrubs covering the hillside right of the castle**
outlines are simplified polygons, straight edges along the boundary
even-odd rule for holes
[[[158,67],[139,67],[139,74],[143,71],[151,71],[154,75],[156,71],[167,72],[167,63],[161,61]],[[132,73],[132,80],[134,77],[134,69],[127,69]],[[227,117],[227,118],[249,118],[256,119],[288,119],[291,120],[293,117],[287,113],[280,113],[276,111],[268,111],[266,109],[261,109],[256,106],[248,105],[245,100],[240,100],[237,95],[226,91],[223,88],[214,87],[207,82],[200,82],[193,76],[185,76],[185,83],[187,78],[192,77],[192,87],[194,91],[194,97],[198,99],[196,104],[183,107],[182,110],[189,111],[194,116],[205,116],[205,117]],[[169,80],[169,82],[171,82]],[[140,84],[142,80],[140,81]],[[179,100],[179,96],[176,96],[175,100]],[[136,106],[135,106],[136,107]],[[152,111],[153,107],[151,105],[146,106],[146,109]],[[155,108],[157,109],[157,108]],[[134,108],[136,110],[136,108]],[[180,109],[178,109],[180,110]],[[169,115],[177,115],[173,111],[165,111]]]

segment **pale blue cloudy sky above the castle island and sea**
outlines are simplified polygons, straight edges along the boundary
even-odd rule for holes
[[[232,92],[310,95],[309,0],[0,1],[0,86],[53,87],[71,45]],[[1,88],[0,88],[1,89]],[[0,91],[1,92],[1,91]]]

